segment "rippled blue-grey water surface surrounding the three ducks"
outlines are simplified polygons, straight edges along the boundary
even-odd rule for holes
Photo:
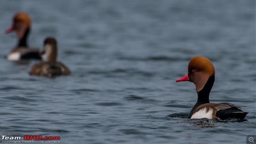
[[[56,37],[70,76],[29,76],[36,60],[4,59],[19,11],[33,20],[29,45]],[[256,133],[255,1],[3,0],[0,13],[0,132],[60,143],[246,143]],[[210,101],[242,107],[247,121],[186,118],[195,86],[175,80],[196,55],[215,66]]]

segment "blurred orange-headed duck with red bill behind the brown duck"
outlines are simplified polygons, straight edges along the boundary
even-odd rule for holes
[[[18,45],[6,56],[7,60],[41,59],[40,49],[29,48],[27,37],[31,28],[31,19],[26,12],[18,12],[14,15],[12,26],[5,30],[5,34],[16,31]]]

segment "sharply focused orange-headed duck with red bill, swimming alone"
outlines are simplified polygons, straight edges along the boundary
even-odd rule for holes
[[[176,82],[189,81],[196,85],[197,102],[191,109],[188,118],[209,119],[246,119],[244,112],[234,104],[210,103],[209,95],[215,81],[215,68],[212,62],[203,56],[195,56],[188,63],[188,73]]]

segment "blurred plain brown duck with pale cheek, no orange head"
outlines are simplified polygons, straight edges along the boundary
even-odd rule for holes
[[[57,61],[57,41],[53,37],[46,37],[44,40],[44,50],[41,55],[46,55],[45,61],[35,63],[29,74],[31,76],[68,76],[70,70],[62,62]]]

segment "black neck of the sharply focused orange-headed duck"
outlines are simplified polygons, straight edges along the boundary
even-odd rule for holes
[[[204,88],[197,92],[197,102],[194,105],[194,107],[191,109],[188,118],[191,118],[193,112],[195,109],[205,103],[210,103],[209,95],[212,90],[212,86],[214,84],[215,76],[210,76],[206,84],[204,85]]]

